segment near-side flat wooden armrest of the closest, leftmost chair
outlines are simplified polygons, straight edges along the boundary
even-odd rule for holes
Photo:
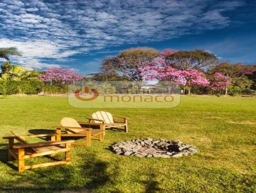
[[[31,143],[31,144],[14,144],[12,148],[36,148],[36,147],[43,147],[43,146],[52,146],[56,144],[67,144],[67,143],[74,143],[74,140],[65,140],[65,141],[47,141],[47,142],[40,142],[40,143]]]

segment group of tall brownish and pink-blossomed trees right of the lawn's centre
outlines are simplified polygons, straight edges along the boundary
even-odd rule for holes
[[[128,49],[104,59],[101,73],[91,80],[173,81],[184,93],[255,95],[256,65],[221,62],[204,50],[159,52],[150,48]]]

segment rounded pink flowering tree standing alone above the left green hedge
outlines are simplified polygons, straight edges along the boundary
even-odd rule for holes
[[[83,77],[72,69],[51,68],[45,70],[39,79],[43,82],[56,82],[57,84],[72,84],[75,81],[81,81]]]

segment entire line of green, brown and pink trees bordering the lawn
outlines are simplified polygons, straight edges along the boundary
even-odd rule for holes
[[[81,80],[83,85],[93,81],[132,81],[138,84],[139,91],[146,81],[157,80],[159,85],[163,81],[176,82],[184,94],[256,94],[256,65],[221,62],[204,50],[128,49],[104,59],[100,68],[100,73],[82,77],[71,69],[39,72],[5,61],[1,65],[0,95],[65,94],[68,85]]]

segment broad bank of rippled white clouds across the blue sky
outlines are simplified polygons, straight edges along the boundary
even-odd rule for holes
[[[222,28],[230,24],[223,12],[242,4],[239,0],[2,0],[0,47],[17,47],[24,54],[15,61],[44,68],[49,67],[45,58],[64,61],[78,53]]]

